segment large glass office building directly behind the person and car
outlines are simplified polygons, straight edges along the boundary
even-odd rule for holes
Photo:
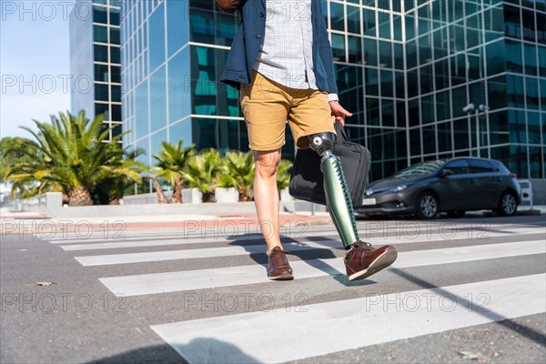
[[[372,179],[458,156],[545,177],[545,0],[320,3],[340,102],[354,113],[347,131],[371,151]],[[238,16],[213,1],[122,8],[126,143],[146,150],[149,164],[163,140],[248,150],[238,91],[217,82]],[[293,153],[288,132],[283,157]]]

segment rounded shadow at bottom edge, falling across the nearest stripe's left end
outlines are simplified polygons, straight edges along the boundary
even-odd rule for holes
[[[164,344],[129,350],[87,364],[114,363],[259,363],[237,346],[213,338],[191,339],[187,344]]]

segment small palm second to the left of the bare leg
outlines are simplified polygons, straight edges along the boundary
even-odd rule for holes
[[[189,187],[197,188],[203,194],[203,202],[214,202],[215,188],[220,173],[222,162],[216,149],[208,149],[189,160],[184,177]]]

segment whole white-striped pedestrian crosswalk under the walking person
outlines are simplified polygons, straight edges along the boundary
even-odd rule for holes
[[[84,269],[104,269],[98,279],[116,296],[161,302],[175,295],[183,303],[178,319],[150,318],[149,327],[190,363],[305,361],[546,311],[543,224],[490,225],[471,235],[455,224],[428,224],[398,235],[393,228],[368,234],[360,224],[367,241],[394,245],[399,258],[357,282],[345,277],[334,227],[283,237],[294,253],[296,279],[288,282],[268,280],[256,234],[131,231],[50,243]]]

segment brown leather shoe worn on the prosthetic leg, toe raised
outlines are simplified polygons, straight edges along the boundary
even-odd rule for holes
[[[357,241],[345,256],[345,268],[349,280],[364,279],[389,267],[398,257],[394,247],[386,245],[373,248],[371,244]]]

